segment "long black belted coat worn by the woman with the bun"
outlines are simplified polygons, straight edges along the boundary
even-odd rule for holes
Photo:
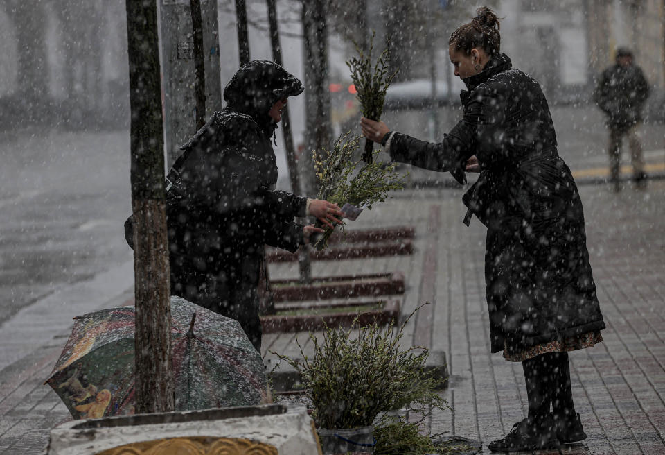
[[[589,264],[582,203],[540,85],[504,54],[464,80],[463,119],[438,144],[394,133],[393,160],[477,182],[463,196],[487,226],[486,298],[492,352],[604,329]]]

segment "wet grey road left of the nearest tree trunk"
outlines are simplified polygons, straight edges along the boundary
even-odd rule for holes
[[[0,159],[0,323],[132,258],[126,132],[0,132]]]

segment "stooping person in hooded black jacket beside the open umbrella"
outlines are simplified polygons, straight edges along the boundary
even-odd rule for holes
[[[254,60],[224,88],[227,106],[181,148],[167,194],[172,295],[238,320],[260,351],[258,280],[263,246],[295,252],[313,225],[340,223],[335,204],[274,189],[271,138],[289,96],[303,85],[274,62]]]

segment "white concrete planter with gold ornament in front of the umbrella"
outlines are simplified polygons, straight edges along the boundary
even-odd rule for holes
[[[48,455],[321,454],[303,406],[271,404],[75,420],[51,430]]]

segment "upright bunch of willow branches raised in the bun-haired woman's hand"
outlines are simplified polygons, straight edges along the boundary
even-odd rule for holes
[[[386,40],[386,49],[379,55],[372,67],[372,51],[374,50],[374,37],[376,32],[372,33],[369,42],[369,52],[364,54],[356,42],[355,50],[357,57],[353,57],[346,62],[348,69],[351,70],[351,80],[355,85],[358,101],[364,117],[379,121],[383,112],[383,103],[386,99],[388,87],[397,74],[398,69],[390,72],[390,38]],[[371,139],[365,141],[365,153],[362,159],[366,163],[373,160],[374,143]]]

